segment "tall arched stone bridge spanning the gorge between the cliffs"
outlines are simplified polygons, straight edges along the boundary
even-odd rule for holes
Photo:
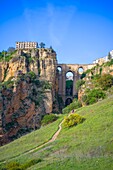
[[[65,105],[68,105],[72,102],[73,98],[77,96],[77,90],[75,88],[76,81],[81,78],[83,71],[91,69],[95,64],[58,64],[58,93],[62,97]],[[66,74],[71,72],[73,77],[70,76],[72,85],[70,88],[67,88]]]

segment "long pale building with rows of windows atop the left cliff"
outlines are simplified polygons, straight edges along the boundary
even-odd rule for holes
[[[16,42],[16,49],[33,49],[37,48],[37,42]]]

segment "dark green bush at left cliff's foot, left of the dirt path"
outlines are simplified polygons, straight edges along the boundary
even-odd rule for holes
[[[42,125],[47,125],[49,123],[54,122],[55,120],[57,120],[58,117],[55,114],[50,114],[50,115],[45,115],[41,121]]]

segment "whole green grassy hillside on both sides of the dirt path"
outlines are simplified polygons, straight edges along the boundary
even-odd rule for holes
[[[11,161],[25,164],[40,159],[26,169],[113,170],[113,96],[79,108],[77,113],[85,121],[69,129],[62,128],[57,139],[42,148],[26,152],[49,140],[64,115],[56,122],[1,147],[1,169]]]

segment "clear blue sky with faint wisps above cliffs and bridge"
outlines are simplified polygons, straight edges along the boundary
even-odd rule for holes
[[[0,51],[37,41],[59,63],[92,63],[113,50],[113,1],[1,0],[0,40]]]

